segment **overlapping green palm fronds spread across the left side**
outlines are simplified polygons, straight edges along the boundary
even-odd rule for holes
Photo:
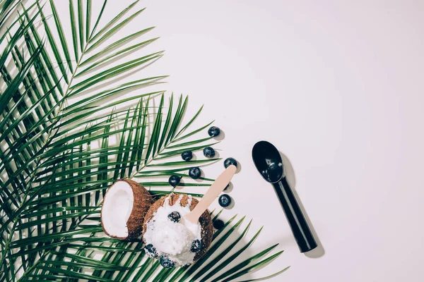
[[[117,178],[134,178],[160,197],[172,192],[167,178],[175,174],[184,178],[182,186],[196,188],[188,195],[201,197],[213,179],[192,182],[188,168],[220,159],[176,158],[219,142],[206,135],[211,123],[192,128],[203,106],[185,121],[188,97],[141,91],[166,75],[126,78],[163,56],[157,51],[126,58],[158,39],[144,38],[153,27],[105,44],[141,15],[138,1],[103,26],[107,1],[98,14],[90,0],[69,0],[65,15],[58,3],[0,1],[0,74],[6,85],[0,92],[0,281],[230,281],[281,255],[262,258],[273,245],[243,257],[261,229],[242,243],[250,223],[234,236],[245,219],[233,224],[236,216],[216,232],[203,258],[180,269],[163,269],[149,259],[141,240],[105,236],[100,206]],[[113,64],[118,57],[124,61]],[[114,84],[116,78],[124,81]],[[236,264],[229,269],[231,262]]]

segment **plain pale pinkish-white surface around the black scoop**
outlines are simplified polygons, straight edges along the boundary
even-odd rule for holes
[[[130,1],[110,1],[112,18]],[[100,4],[100,3],[99,3]],[[285,250],[252,277],[423,281],[424,1],[141,1],[132,24],[165,56],[143,71],[189,94],[189,113],[225,131],[220,157],[242,170],[224,218],[253,218],[259,252]],[[97,8],[99,8],[97,6]],[[66,5],[63,7],[67,10]],[[131,30],[122,30],[127,34]],[[269,140],[293,166],[322,247],[299,252],[251,149]],[[223,169],[207,172],[215,177]]]

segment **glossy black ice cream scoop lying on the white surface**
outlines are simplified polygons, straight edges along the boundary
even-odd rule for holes
[[[299,207],[298,200],[285,179],[280,152],[270,142],[260,141],[252,149],[252,158],[261,176],[276,190],[300,252],[313,250],[317,247],[317,243]]]

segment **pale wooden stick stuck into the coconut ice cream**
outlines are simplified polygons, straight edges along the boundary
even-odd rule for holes
[[[223,192],[225,187],[227,187],[228,183],[230,183],[232,176],[234,176],[237,168],[235,166],[228,166],[227,169],[223,173],[216,178],[215,182],[212,183],[211,187],[209,187],[206,194],[201,198],[199,204],[194,207],[192,212],[187,214],[185,219],[191,221],[192,223],[197,223],[201,214],[203,214],[206,209],[215,201],[216,197],[219,196],[220,192]]]

